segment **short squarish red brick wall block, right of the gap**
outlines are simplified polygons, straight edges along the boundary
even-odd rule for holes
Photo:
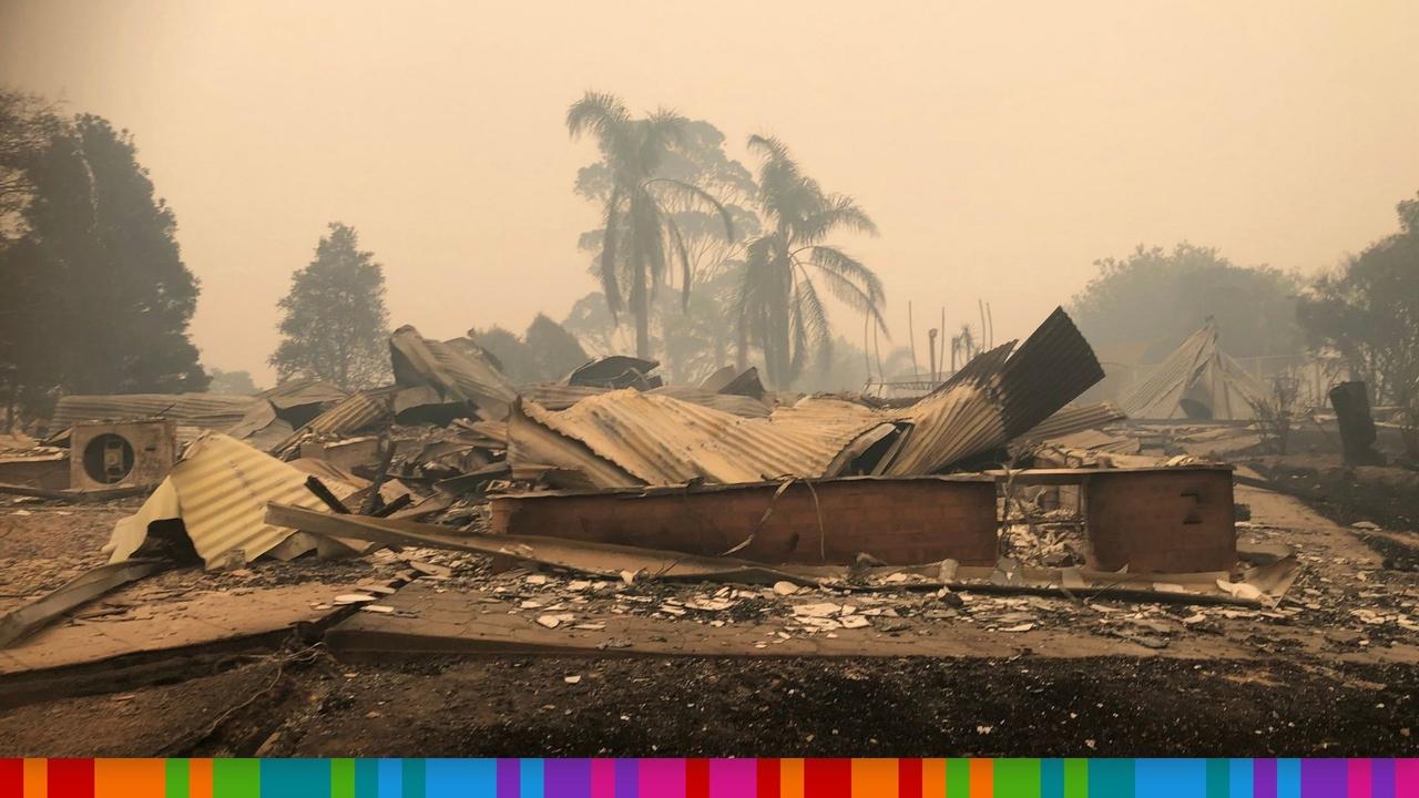
[[[1084,503],[1091,568],[1185,574],[1236,565],[1229,469],[1091,474]]]

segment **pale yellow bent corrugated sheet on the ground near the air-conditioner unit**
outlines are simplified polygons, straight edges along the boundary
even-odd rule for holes
[[[294,532],[265,523],[268,501],[325,508],[307,490],[305,477],[305,471],[240,440],[206,433],[187,447],[143,507],[115,525],[114,561],[138,548],[150,523],[175,517],[182,518],[193,548],[209,568],[223,564],[236,550],[245,561],[255,559]],[[328,487],[336,493],[355,490]]]

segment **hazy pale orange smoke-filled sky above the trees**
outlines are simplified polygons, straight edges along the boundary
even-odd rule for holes
[[[595,146],[563,125],[587,88],[708,119],[741,159],[785,139],[876,217],[841,243],[905,342],[907,300],[965,321],[983,297],[998,339],[1027,334],[1138,243],[1337,263],[1419,189],[1416,75],[1413,0],[0,0],[0,81],[133,131],[204,364],[264,385],[331,220],[385,264],[394,325],[561,319],[595,287],[572,193]]]

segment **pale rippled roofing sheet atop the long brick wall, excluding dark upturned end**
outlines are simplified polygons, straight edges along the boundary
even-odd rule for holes
[[[851,406],[849,402],[834,405]],[[586,449],[586,454],[595,456],[599,473],[587,476],[596,487],[680,484],[697,479],[745,483],[786,474],[833,476],[824,471],[837,454],[857,436],[883,423],[866,408],[861,410],[866,415],[851,410],[850,417],[780,410],[769,419],[744,419],[633,389],[592,396],[558,413],[524,402],[522,417],[515,415],[509,426],[509,457],[515,464],[531,459],[585,470],[585,454],[569,452],[559,456],[555,439],[539,436],[522,446],[524,423],[531,422],[576,442]],[[834,422],[822,423],[827,417],[834,417]],[[583,461],[573,461],[573,454]],[[620,479],[616,471],[624,471],[636,481],[613,481]]]

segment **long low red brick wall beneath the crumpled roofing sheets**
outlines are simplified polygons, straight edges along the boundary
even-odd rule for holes
[[[492,530],[718,555],[744,541],[773,501],[773,514],[735,557],[822,564],[826,554],[826,562],[843,564],[868,554],[890,565],[945,558],[995,564],[993,481],[824,480],[812,491],[793,483],[775,501],[776,488],[499,497],[492,500]]]

